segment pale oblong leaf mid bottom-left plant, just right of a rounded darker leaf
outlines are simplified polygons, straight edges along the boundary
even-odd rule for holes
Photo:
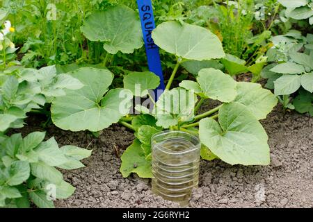
[[[61,184],[63,180],[63,176],[60,171],[58,171],[54,167],[48,166],[44,162],[32,163],[31,174],[42,180],[48,180],[49,182],[52,182],[55,185]]]

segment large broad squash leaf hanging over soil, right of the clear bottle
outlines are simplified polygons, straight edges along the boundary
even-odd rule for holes
[[[245,105],[225,103],[218,122],[211,118],[200,121],[199,135],[202,144],[229,164],[269,164],[266,132]]]

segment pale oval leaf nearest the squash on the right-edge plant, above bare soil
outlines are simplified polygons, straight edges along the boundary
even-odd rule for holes
[[[301,76],[283,75],[275,80],[275,95],[289,95],[296,92],[300,86]]]

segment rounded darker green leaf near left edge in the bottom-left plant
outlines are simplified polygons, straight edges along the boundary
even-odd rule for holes
[[[30,175],[29,163],[26,161],[15,161],[6,168],[6,184],[10,186],[20,185],[26,181]]]

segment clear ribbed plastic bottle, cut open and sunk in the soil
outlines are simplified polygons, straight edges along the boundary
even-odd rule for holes
[[[199,139],[181,131],[152,137],[152,191],[186,207],[199,182]]]

